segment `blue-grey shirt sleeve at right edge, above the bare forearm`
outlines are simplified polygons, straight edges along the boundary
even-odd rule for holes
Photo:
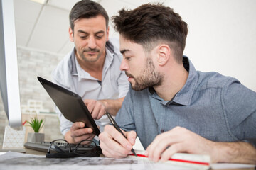
[[[256,146],[256,92],[231,79],[222,98],[231,134]]]

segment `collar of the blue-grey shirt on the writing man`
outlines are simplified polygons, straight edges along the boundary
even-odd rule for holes
[[[186,80],[186,84],[183,86],[183,88],[178,91],[178,93],[174,96],[174,98],[171,99],[171,101],[164,101],[156,94],[156,91],[152,87],[149,88],[149,94],[151,94],[152,97],[162,101],[164,105],[180,104],[189,106],[191,104],[193,90],[196,86],[196,69],[186,56],[183,56],[183,66],[186,70],[188,70],[188,79]]]

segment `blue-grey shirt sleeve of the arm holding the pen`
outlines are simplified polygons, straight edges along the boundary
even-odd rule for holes
[[[122,103],[122,107],[120,108],[117,116],[115,118],[117,124],[124,131],[136,131],[135,123],[134,123],[134,110],[133,102],[132,102],[132,92],[131,87],[129,86],[129,91],[127,96],[124,98]]]

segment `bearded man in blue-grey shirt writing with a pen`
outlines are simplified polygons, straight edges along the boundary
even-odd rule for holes
[[[198,72],[183,56],[187,24],[161,4],[114,16],[131,88],[100,134],[106,157],[127,157],[138,136],[146,155],[165,162],[176,152],[209,154],[212,162],[256,164],[256,93],[233,77]]]

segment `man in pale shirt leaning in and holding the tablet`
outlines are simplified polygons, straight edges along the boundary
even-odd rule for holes
[[[129,89],[127,76],[119,70],[122,62],[119,40],[109,40],[109,17],[94,1],[79,1],[69,17],[69,36],[75,47],[53,71],[53,81],[84,99],[102,131],[109,123],[105,113],[116,115]],[[85,123],[71,123],[58,108],[56,112],[60,130],[68,142],[78,143],[95,137],[91,128],[84,128]]]

